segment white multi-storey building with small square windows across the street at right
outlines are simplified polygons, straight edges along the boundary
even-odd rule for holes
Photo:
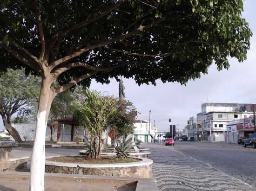
[[[250,115],[250,104],[204,103],[202,112],[197,114],[197,128],[202,131],[202,140],[227,141],[227,123]]]

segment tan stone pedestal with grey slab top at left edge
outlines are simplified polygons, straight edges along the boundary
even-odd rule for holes
[[[16,144],[12,140],[0,140],[0,171],[6,170],[10,152],[12,151],[12,147],[15,147]]]

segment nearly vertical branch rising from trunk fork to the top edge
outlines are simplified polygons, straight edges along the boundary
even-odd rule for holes
[[[40,4],[37,3],[37,0],[34,1],[34,6],[35,6],[35,12],[36,12],[37,27],[38,27],[40,41],[41,41],[41,52],[40,52],[39,59],[43,60],[44,53],[45,53],[45,36],[43,31],[43,23],[41,20]]]

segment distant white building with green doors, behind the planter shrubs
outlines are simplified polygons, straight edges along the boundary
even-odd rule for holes
[[[141,140],[141,142],[153,142],[155,137],[155,127],[146,120],[136,120],[134,123],[134,140]],[[150,128],[149,128],[150,127]],[[156,129],[157,130],[157,129]]]

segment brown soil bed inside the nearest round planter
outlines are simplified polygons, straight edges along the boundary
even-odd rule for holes
[[[126,159],[118,159],[116,157],[102,157],[101,159],[89,159],[84,156],[61,156],[61,157],[53,157],[47,160],[54,162],[67,162],[67,163],[93,163],[93,164],[111,164],[111,163],[129,163],[129,162],[138,162],[140,159],[135,158],[126,158]]]

